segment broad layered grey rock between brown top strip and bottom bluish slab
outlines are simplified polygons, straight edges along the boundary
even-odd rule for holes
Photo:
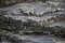
[[[0,9],[0,13],[1,13],[0,15],[2,15],[0,16],[1,17],[0,26],[4,30],[15,31],[15,32],[18,31],[21,33],[23,33],[22,31],[25,31],[24,33],[26,34],[29,33],[44,34],[46,32],[47,33],[50,32],[55,35],[58,35],[61,33],[62,33],[61,35],[63,35],[63,32],[61,32],[61,30],[62,31],[65,30],[65,9],[60,8],[61,4],[58,2],[57,3],[52,2],[52,3],[53,4],[48,2],[18,3],[12,6],[2,8]],[[55,5],[54,3],[57,5]],[[34,9],[37,11],[37,13],[32,14],[31,10]],[[57,29],[60,29],[57,31],[57,29],[54,30],[54,28],[52,28],[54,26],[61,26],[61,27],[63,26],[64,28],[62,27],[60,29],[57,27]]]

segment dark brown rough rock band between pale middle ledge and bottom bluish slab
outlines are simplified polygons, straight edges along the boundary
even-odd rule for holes
[[[21,20],[15,20],[12,18],[6,18],[4,16],[0,16],[0,29],[3,31],[0,31],[5,35],[5,32],[11,31],[11,32],[16,32],[22,34],[54,34],[56,37],[64,37],[65,32],[65,27],[44,27],[38,25],[38,23],[35,23],[34,20],[28,20],[28,22],[21,22]],[[21,25],[20,25],[21,24]],[[4,31],[5,30],[5,31]],[[29,32],[32,31],[32,32]]]

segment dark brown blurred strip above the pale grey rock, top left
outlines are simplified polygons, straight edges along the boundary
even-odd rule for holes
[[[37,2],[37,1],[46,1],[46,0],[0,0],[0,6],[5,6],[20,2]]]

